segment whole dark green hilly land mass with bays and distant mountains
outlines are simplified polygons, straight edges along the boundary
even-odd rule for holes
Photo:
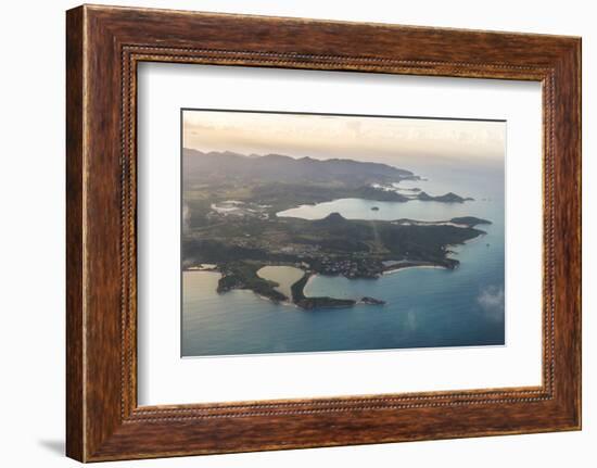
[[[183,269],[209,265],[221,275],[219,293],[251,290],[308,311],[383,305],[370,296],[306,296],[305,286],[314,275],[376,279],[416,266],[454,269],[459,261],[453,257],[450,245],[482,236],[478,226],[491,224],[473,216],[420,222],[346,219],[340,213],[313,220],[277,215],[302,204],[342,198],[401,203],[472,200],[454,192],[431,197],[406,189],[408,194],[401,193],[396,189],[401,181],[419,177],[385,164],[187,149],[182,164]],[[265,266],[293,266],[303,271],[290,288],[290,296],[276,281],[258,275]]]

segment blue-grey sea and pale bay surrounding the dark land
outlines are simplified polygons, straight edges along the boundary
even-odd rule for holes
[[[411,268],[379,279],[313,277],[307,295],[382,299],[383,306],[302,311],[274,304],[251,291],[217,294],[219,274],[183,274],[182,355],[384,350],[505,342],[505,225],[501,170],[417,172],[427,181],[404,182],[430,194],[454,191],[463,204],[336,200],[287,211],[316,219],[339,212],[354,219],[444,220],[471,215],[490,219],[487,233],[455,246],[455,270]],[[379,211],[371,211],[378,206]],[[280,214],[282,215],[282,214]]]

